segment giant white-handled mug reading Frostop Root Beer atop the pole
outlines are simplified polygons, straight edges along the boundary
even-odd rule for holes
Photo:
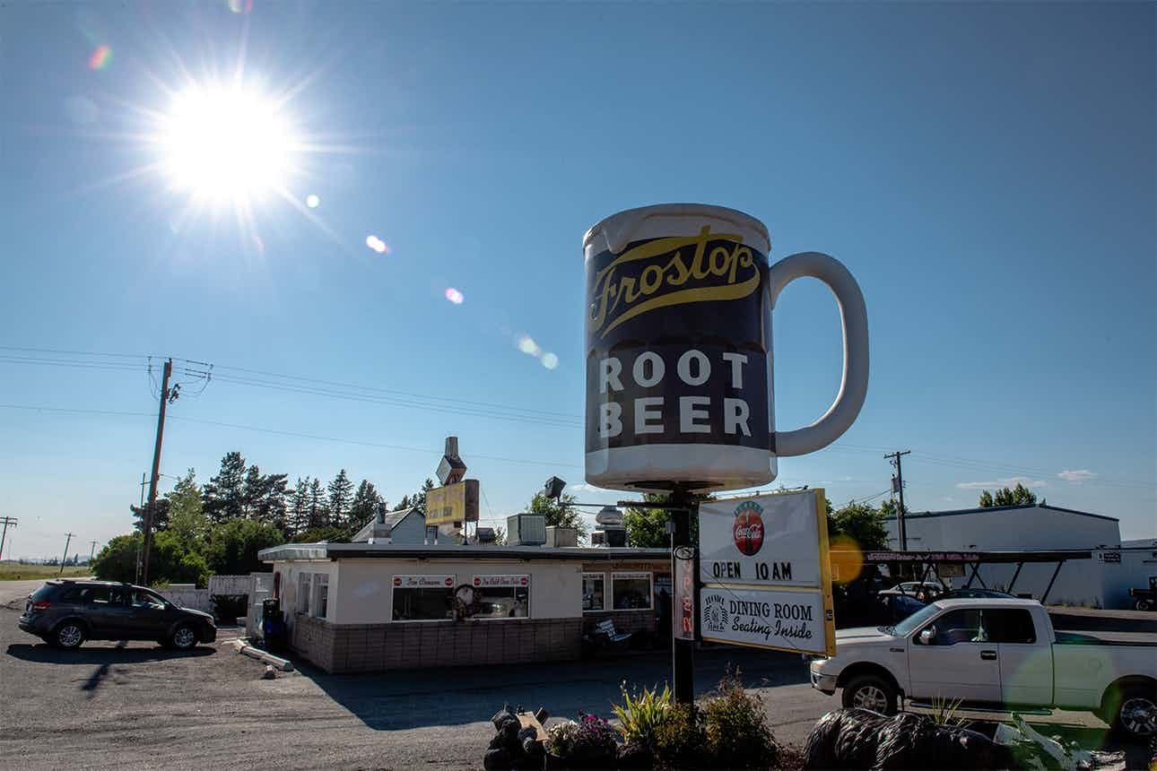
[[[868,390],[868,317],[852,274],[818,252],[767,264],[767,228],[715,206],[621,212],[583,239],[587,481],[620,490],[731,490],[775,479],[852,425]],[[772,309],[803,276],[843,324],[843,378],[827,414],[775,430]]]

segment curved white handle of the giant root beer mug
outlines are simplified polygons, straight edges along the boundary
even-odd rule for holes
[[[835,295],[843,326],[843,377],[840,393],[824,416],[795,431],[776,431],[772,452],[778,457],[803,455],[832,444],[855,422],[868,395],[868,309],[860,284],[843,264],[820,252],[799,252],[772,266],[767,294],[772,310],[780,292],[804,276],[819,279]],[[774,390],[773,390],[774,393]]]

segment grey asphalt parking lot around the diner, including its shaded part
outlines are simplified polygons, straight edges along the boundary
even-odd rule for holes
[[[624,680],[668,677],[663,657],[627,657],[376,675],[307,667],[261,680],[264,665],[235,652],[228,639],[239,632],[229,629],[186,653],[100,642],[65,652],[16,627],[23,598],[38,585],[0,584],[2,768],[480,768],[493,732],[487,719],[503,702],[610,717]],[[786,653],[701,653],[699,690],[729,665],[764,696],[781,742],[802,747],[816,719],[839,706],[813,691],[803,661]],[[1095,718],[1059,720],[1086,746],[1104,736]]]

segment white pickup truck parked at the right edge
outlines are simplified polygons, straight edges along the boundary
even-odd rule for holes
[[[1157,643],[1056,632],[1034,600],[938,600],[896,627],[843,629],[811,684],[843,706],[896,713],[934,698],[1008,711],[1086,711],[1132,739],[1154,733]]]

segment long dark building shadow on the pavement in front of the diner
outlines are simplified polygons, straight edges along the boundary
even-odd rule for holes
[[[545,706],[552,716],[580,711],[612,717],[619,688],[650,688],[670,681],[669,654],[631,655],[550,663],[472,665],[437,669],[329,675],[307,662],[299,670],[337,704],[375,731],[405,731],[430,725],[488,720],[503,703],[529,710]],[[705,650],[695,653],[695,691],[709,694],[728,669],[738,668],[753,688],[808,682],[808,668],[795,653]]]

